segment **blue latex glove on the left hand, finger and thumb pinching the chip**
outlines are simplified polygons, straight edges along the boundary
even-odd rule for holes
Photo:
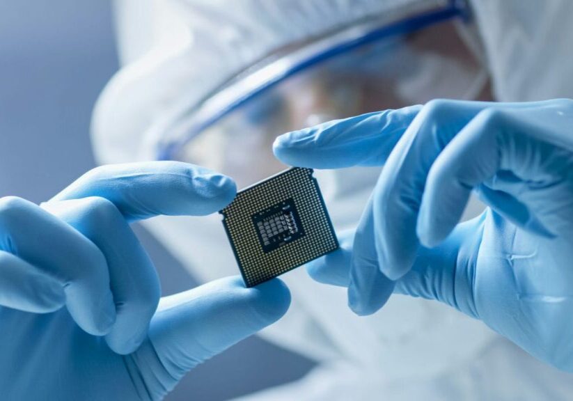
[[[2,198],[0,398],[158,400],[278,320],[290,303],[278,280],[247,289],[224,278],[159,300],[129,228],[157,214],[210,214],[234,196],[223,175],[155,162],[96,168],[41,207]]]

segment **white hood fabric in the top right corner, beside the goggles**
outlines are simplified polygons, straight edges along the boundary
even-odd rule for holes
[[[573,97],[573,1],[473,0],[498,100]]]

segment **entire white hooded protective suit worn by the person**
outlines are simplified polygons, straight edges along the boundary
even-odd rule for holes
[[[97,102],[96,156],[102,163],[151,159],[160,127],[176,111],[246,65],[290,42],[409,2],[119,0],[127,65]],[[573,24],[566,20],[573,2],[473,3],[499,99],[573,97]],[[145,7],[153,11],[142,12]],[[137,34],[146,26],[152,38]],[[352,227],[377,169],[317,175],[336,228]],[[159,217],[147,226],[201,280],[237,274],[219,216]],[[284,279],[292,307],[262,336],[320,365],[301,382],[246,399],[565,400],[563,394],[573,391],[570,376],[437,302],[396,296],[379,313],[356,317],[345,290],[314,283],[304,269]]]

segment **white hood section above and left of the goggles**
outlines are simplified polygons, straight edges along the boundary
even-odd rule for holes
[[[146,47],[148,52],[116,74],[97,102],[95,155],[102,162],[155,157],[159,136],[168,134],[161,128],[246,65],[349,20],[420,2],[119,0],[120,59],[131,61]],[[141,11],[146,9],[151,12]],[[139,17],[152,18],[146,22],[152,40],[142,22],[133,22]]]

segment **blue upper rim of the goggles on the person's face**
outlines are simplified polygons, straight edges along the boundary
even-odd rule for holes
[[[333,47],[317,52],[316,54],[301,60],[299,63],[293,63],[293,65],[288,66],[288,68],[285,68],[276,74],[272,74],[272,76],[265,81],[262,81],[256,88],[232,98],[229,102],[222,104],[221,107],[214,110],[210,110],[208,108],[205,108],[207,110],[202,110],[206,104],[208,105],[209,100],[207,99],[207,102],[203,102],[196,109],[196,122],[192,123],[189,129],[185,129],[186,132],[181,135],[180,139],[173,139],[172,141],[165,141],[164,143],[160,142],[158,144],[159,149],[157,152],[157,159],[174,159],[178,150],[185,146],[185,144],[191,141],[195,136],[201,134],[203,130],[207,129],[214,123],[217,123],[217,121],[228,115],[228,113],[235,111],[254,97],[301,71],[307,70],[308,68],[323,63],[324,61],[328,61],[341,54],[351,52],[363,45],[368,45],[372,42],[377,42],[378,40],[384,40],[395,36],[402,36],[407,33],[413,33],[415,31],[425,29],[428,26],[439,24],[440,22],[446,22],[454,18],[460,18],[462,20],[469,18],[469,8],[466,1],[452,0],[448,3],[448,6],[440,8],[439,10],[427,11],[417,15],[416,17],[402,19],[398,22],[393,22],[386,26],[372,29],[371,31],[366,31],[362,35],[351,38],[350,40],[339,42]]]

